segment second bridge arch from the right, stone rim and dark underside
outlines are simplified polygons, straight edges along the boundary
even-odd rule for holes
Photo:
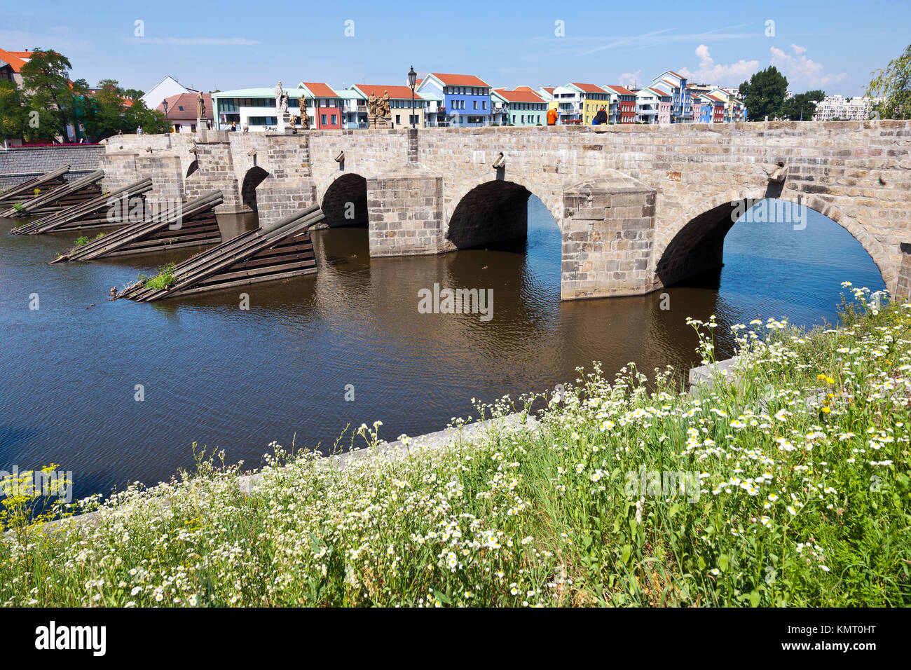
[[[451,248],[464,249],[525,237],[531,195],[544,203],[560,228],[554,200],[549,197],[545,200],[547,194],[538,196],[522,180],[478,180],[451,201],[455,207],[446,224],[445,242]]]

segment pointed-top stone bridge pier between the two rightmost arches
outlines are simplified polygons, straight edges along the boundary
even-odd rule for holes
[[[562,300],[654,289],[655,194],[617,170],[564,190]]]

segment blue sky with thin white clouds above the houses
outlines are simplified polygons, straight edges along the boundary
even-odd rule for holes
[[[165,75],[203,90],[404,84],[413,64],[508,88],[642,84],[665,69],[737,86],[773,64],[794,92],[859,95],[911,42],[906,1],[628,4],[33,0],[4,9],[0,47],[55,48],[73,78],[142,90]]]

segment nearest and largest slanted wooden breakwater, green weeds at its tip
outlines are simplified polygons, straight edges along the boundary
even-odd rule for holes
[[[179,263],[170,283],[159,288],[150,280],[128,287],[118,297],[152,302],[231,286],[267,282],[317,271],[310,227],[325,219],[312,205],[265,228],[244,232],[217,247]]]

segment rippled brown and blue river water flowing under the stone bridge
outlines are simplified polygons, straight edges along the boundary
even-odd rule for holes
[[[630,361],[685,368],[687,316],[715,314],[722,332],[757,316],[822,324],[841,282],[884,287],[850,233],[814,211],[804,230],[737,223],[720,277],[668,289],[666,310],[660,294],[561,303],[559,232],[536,198],[524,241],[371,259],[364,228],[336,228],[313,233],[317,274],[152,304],[107,294],[186,252],[48,265],[79,233],[13,225],[0,219],[0,470],[59,464],[77,496],[169,479],[194,441],[256,468],[272,440],[332,448],[346,425],[378,419],[381,437],[414,436],[476,414],[471,398],[552,388],[593,360],[610,375]],[[255,225],[220,217],[226,235]],[[493,318],[420,314],[435,283],[492,288]]]

